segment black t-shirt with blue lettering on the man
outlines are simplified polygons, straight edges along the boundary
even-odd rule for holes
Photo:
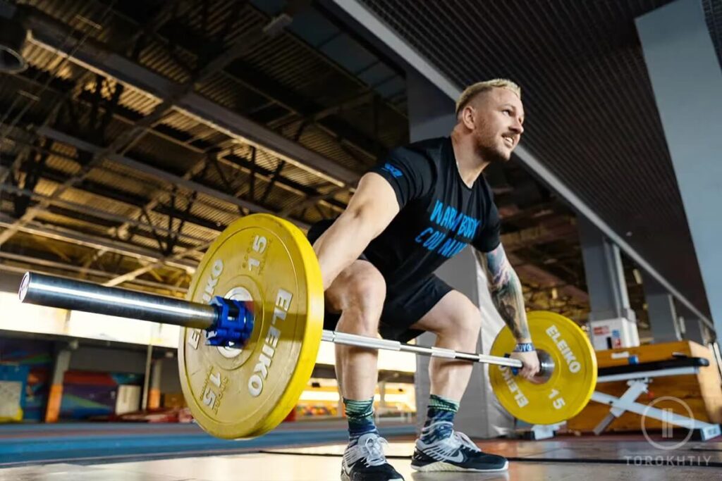
[[[490,252],[500,242],[499,212],[483,175],[461,180],[451,138],[394,149],[371,169],[391,184],[401,210],[364,254],[389,292],[414,286],[466,244]]]

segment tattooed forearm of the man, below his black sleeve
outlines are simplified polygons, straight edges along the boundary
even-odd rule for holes
[[[521,282],[501,244],[492,252],[478,253],[487,273],[492,301],[517,340],[529,339]]]

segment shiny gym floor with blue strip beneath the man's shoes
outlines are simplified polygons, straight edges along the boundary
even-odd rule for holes
[[[413,425],[386,423],[381,430],[389,441],[389,462],[407,481],[659,481],[718,479],[722,472],[722,438],[662,450],[642,436],[617,435],[477,441],[482,449],[507,456],[509,471],[418,473],[409,465]],[[2,426],[0,481],[338,480],[345,434],[337,421],[287,423],[248,441],[212,438],[195,425]]]

